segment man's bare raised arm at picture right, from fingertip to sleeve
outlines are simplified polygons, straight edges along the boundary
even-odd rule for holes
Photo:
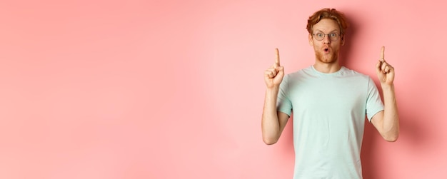
[[[371,123],[386,141],[394,142],[399,135],[399,114],[394,93],[394,68],[385,61],[385,48],[381,49],[381,58],[376,65],[376,73],[383,92],[383,111],[376,113]]]

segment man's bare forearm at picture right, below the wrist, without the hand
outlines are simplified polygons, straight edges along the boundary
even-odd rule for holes
[[[397,140],[399,135],[399,115],[394,93],[394,85],[382,85],[383,91],[383,133],[388,140]]]

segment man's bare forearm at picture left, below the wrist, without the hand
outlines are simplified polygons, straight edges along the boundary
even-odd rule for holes
[[[266,98],[262,113],[262,138],[266,144],[273,144],[281,135],[281,128],[276,111],[276,99],[278,98],[278,88],[266,90]]]

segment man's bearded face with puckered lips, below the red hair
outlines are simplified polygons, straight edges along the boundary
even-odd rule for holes
[[[309,44],[313,46],[316,60],[323,63],[337,63],[338,51],[340,45],[343,44],[343,38],[340,36],[340,28],[335,20],[321,19],[312,27],[313,33],[309,34]],[[313,34],[322,33],[324,38],[318,41]],[[326,35],[324,35],[326,34]],[[338,39],[332,41],[330,34],[336,34]]]

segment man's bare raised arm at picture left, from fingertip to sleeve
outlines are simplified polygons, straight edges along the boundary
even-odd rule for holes
[[[276,61],[264,72],[266,82],[266,97],[264,100],[261,128],[264,143],[271,145],[276,143],[286,126],[289,116],[286,113],[276,111],[276,99],[278,98],[279,85],[283,81],[284,68],[279,63],[279,51],[276,48]]]

